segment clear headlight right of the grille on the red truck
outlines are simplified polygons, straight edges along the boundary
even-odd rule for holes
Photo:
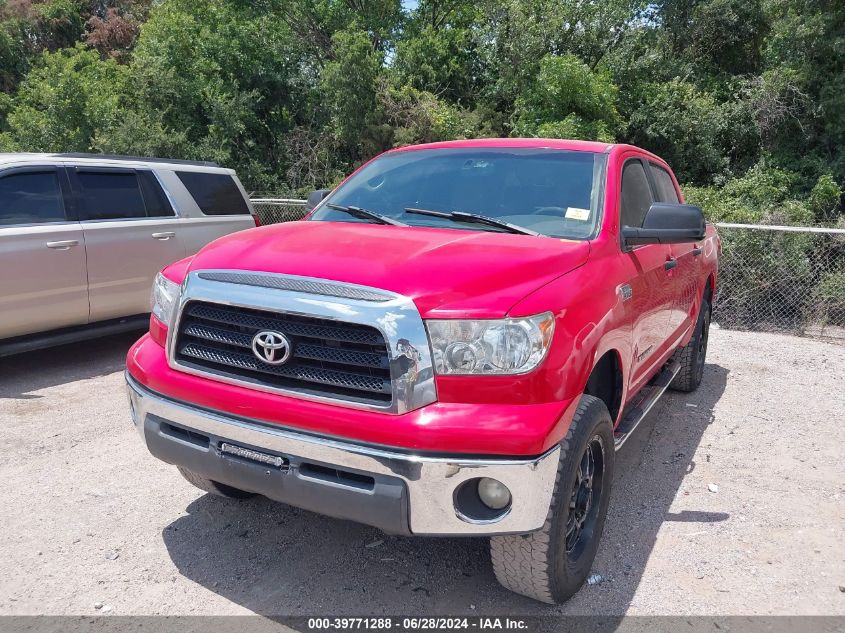
[[[546,356],[551,312],[521,319],[426,321],[438,374],[523,374]]]

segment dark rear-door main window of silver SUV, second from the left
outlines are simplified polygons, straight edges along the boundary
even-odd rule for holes
[[[82,188],[82,206],[88,220],[145,218],[144,198],[134,171],[85,171],[76,176]]]

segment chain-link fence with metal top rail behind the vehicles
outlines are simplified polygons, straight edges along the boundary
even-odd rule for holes
[[[264,224],[298,220],[305,200],[254,198]],[[845,340],[845,229],[718,224],[713,320],[738,330]]]

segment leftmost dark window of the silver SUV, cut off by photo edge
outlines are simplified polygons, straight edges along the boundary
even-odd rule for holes
[[[55,169],[0,174],[0,226],[65,220]]]

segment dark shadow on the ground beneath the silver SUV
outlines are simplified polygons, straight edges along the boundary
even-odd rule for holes
[[[105,376],[126,366],[143,330],[0,358],[0,398],[32,400],[41,389]]]

